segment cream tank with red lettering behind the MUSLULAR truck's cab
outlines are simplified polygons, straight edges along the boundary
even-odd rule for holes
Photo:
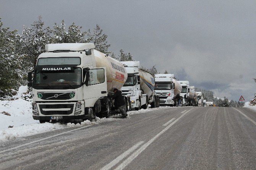
[[[106,56],[100,51],[94,50],[96,67],[106,67],[107,72],[107,91],[114,88],[120,90],[127,79],[127,72],[122,63]]]

